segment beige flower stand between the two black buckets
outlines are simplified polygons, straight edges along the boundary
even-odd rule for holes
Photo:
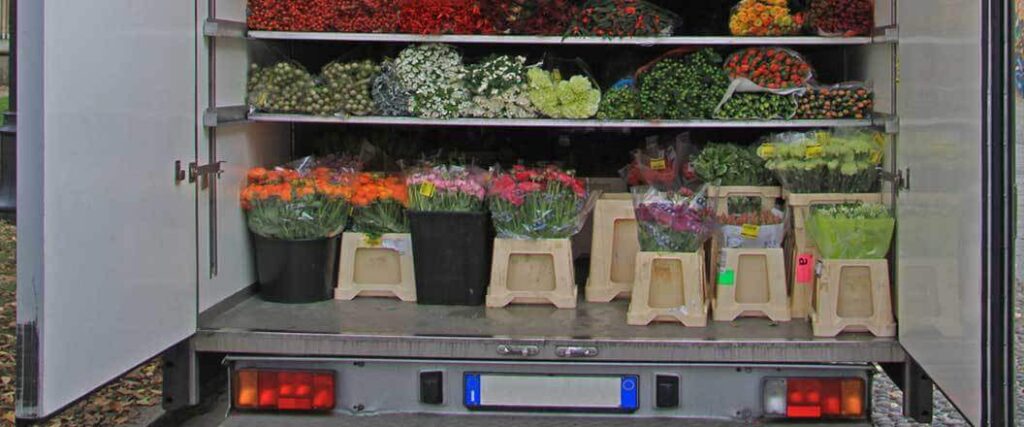
[[[341,238],[341,262],[335,299],[387,297],[416,301],[413,239],[409,233],[370,239],[360,232]]]

